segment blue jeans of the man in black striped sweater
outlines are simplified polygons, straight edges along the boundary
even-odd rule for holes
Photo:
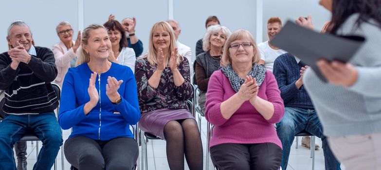
[[[9,115],[0,122],[0,167],[16,170],[13,145],[26,133],[34,132],[42,148],[33,170],[50,170],[62,145],[61,127],[53,112],[39,115]]]

